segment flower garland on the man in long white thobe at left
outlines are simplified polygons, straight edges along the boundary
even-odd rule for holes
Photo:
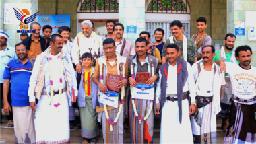
[[[49,50],[50,52],[51,50]],[[50,94],[51,94],[51,105],[58,108],[58,112],[59,112],[59,105],[61,105],[61,93],[62,93],[62,77],[61,77],[61,56],[58,56],[59,59],[59,102],[58,104],[54,104],[53,103],[53,67],[52,67],[52,61],[53,58],[50,57],[49,61],[50,61]]]

